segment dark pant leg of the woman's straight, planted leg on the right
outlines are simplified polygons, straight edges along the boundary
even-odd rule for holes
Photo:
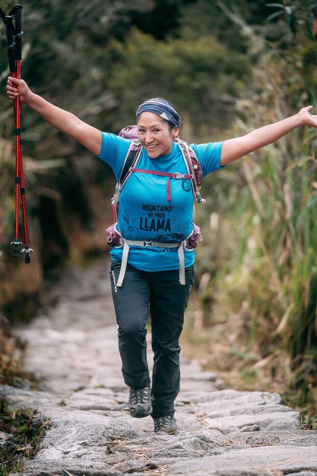
[[[174,400],[179,392],[180,379],[178,340],[193,285],[193,266],[186,268],[185,276],[185,286],[179,284],[178,270],[156,272],[151,278],[153,418],[174,415]]]

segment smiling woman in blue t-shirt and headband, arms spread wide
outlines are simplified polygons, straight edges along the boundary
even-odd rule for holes
[[[18,90],[17,87],[18,86]],[[73,114],[34,94],[23,80],[8,78],[10,99],[22,102],[59,131],[73,137],[107,162],[119,180],[130,141],[102,133]],[[223,142],[192,144],[206,176],[211,171],[270,144],[296,127],[317,127],[312,106],[282,121],[255,129]],[[184,249],[185,284],[179,280],[177,248],[193,229],[193,194],[183,181],[171,180],[166,196],[166,176],[160,172],[186,174],[182,154],[174,139],[180,117],[173,105],[161,98],[145,101],[137,110],[138,136],[142,145],[140,173],[131,174],[120,196],[118,223],[122,236],[131,240],[123,282],[118,284],[122,246],[111,251],[111,289],[119,324],[122,373],[130,388],[129,409],[133,417],[151,415],[154,431],[177,432],[174,400],[179,391],[179,344],[184,312],[192,288],[194,252]],[[154,173],[148,173],[148,171]],[[156,173],[155,173],[156,172]],[[137,244],[135,244],[137,242]],[[139,243],[154,246],[139,246]],[[162,245],[161,245],[162,243]],[[168,246],[171,245],[171,246]],[[146,317],[150,305],[154,367],[152,388],[146,359]]]

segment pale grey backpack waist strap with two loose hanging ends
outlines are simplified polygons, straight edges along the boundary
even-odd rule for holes
[[[121,287],[123,283],[123,278],[127,268],[128,254],[130,246],[141,246],[143,248],[178,248],[177,254],[179,259],[179,283],[185,285],[185,257],[184,257],[184,248],[186,246],[186,240],[181,243],[161,243],[156,241],[137,241],[137,240],[125,240],[121,236],[121,241],[123,243],[123,252],[122,252],[122,261],[121,268],[118,277],[117,286]]]

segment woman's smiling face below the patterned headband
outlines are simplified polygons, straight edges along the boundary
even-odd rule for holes
[[[156,114],[144,112],[140,115],[138,136],[150,159],[156,159],[171,152],[174,134],[178,134],[178,128],[175,127],[171,131],[168,123]]]

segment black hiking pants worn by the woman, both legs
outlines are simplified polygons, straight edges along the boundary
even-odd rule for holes
[[[150,306],[152,349],[152,417],[174,415],[179,392],[179,336],[194,280],[194,267],[185,269],[186,285],[178,270],[141,271],[127,265],[122,287],[116,283],[121,262],[112,261],[110,280],[116,310],[119,351],[125,383],[133,388],[150,385],[146,358],[146,320]]]

